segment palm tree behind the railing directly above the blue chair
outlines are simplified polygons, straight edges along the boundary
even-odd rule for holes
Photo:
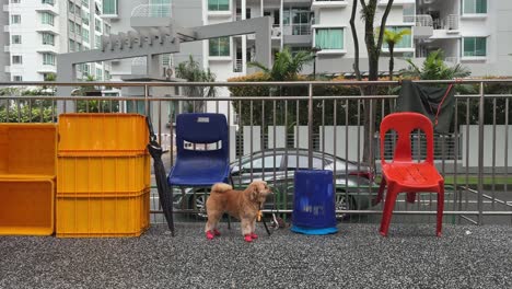
[[[176,67],[176,78],[185,79],[189,82],[214,82],[216,74],[208,68],[206,71],[199,66],[199,62],[194,60],[190,55],[188,61],[181,62]],[[217,91],[214,86],[185,86],[185,95],[199,96],[199,97],[214,97]],[[188,105],[189,111],[202,112],[205,108],[205,102],[194,102]]]

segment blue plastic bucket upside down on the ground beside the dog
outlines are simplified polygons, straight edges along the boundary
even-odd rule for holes
[[[333,171],[295,172],[291,230],[303,234],[338,232]]]

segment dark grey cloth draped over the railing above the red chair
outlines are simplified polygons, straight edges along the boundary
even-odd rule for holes
[[[404,80],[396,111],[426,115],[432,120],[434,132],[449,134],[453,130],[454,93],[453,85],[437,88]]]

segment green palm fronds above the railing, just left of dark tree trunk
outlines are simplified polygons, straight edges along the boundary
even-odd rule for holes
[[[260,62],[248,62],[248,66],[257,67],[269,77],[271,81],[295,81],[305,63],[311,62],[314,55],[311,51],[298,51],[292,54],[288,47],[276,54],[271,68]]]

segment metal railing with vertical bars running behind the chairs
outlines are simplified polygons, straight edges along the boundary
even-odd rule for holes
[[[455,97],[453,119],[454,131],[447,136],[435,136],[437,166],[445,177],[445,215],[446,221],[482,223],[484,220],[502,222],[503,218],[510,223],[512,219],[512,197],[509,192],[509,166],[512,162],[509,147],[512,142],[512,130],[509,113],[512,97],[512,80],[453,80],[453,81],[417,81],[422,84],[446,85],[464,84],[476,89],[473,93],[458,94]],[[51,86],[50,86],[51,85]],[[139,88],[142,93],[135,96],[98,97],[98,96],[54,96],[55,86],[75,86],[78,93],[84,86],[96,88]],[[189,97],[186,95],[172,95],[176,86],[258,86],[264,95],[238,96],[220,95],[214,99]],[[374,95],[344,95],[334,93],[325,95],[325,88],[357,88],[375,85],[380,93]],[[359,172],[369,169],[363,162],[364,152],[361,148],[368,143],[369,158],[379,158],[380,140],[375,138],[375,130],[380,120],[395,111],[395,94],[386,94],[387,88],[399,85],[396,81],[302,81],[302,82],[218,82],[218,83],[172,83],[172,82],[3,82],[0,88],[3,95],[0,96],[0,122],[11,123],[39,123],[57,122],[58,115],[66,112],[136,112],[152,115],[153,125],[159,134],[159,141],[168,148],[170,153],[165,161],[168,170],[175,161],[175,148],[173,144],[174,117],[178,113],[191,112],[194,107],[206,107],[208,112],[223,113],[228,122],[234,124],[234,115],[240,116],[238,124],[232,126],[231,138],[234,142],[231,160],[237,164],[242,159],[237,158],[242,151],[247,152],[251,163],[257,158],[255,152],[267,148],[263,157],[277,158],[277,151],[286,149],[286,153],[305,150],[307,167],[318,160],[319,163],[329,163],[336,172],[345,174],[336,176],[336,189],[347,207],[337,209],[338,213],[350,213],[351,220],[372,221],[382,211],[382,205],[372,205],[376,194],[376,184],[361,185],[350,184],[352,175],[348,174],[348,163],[339,164],[329,161],[330,155],[349,159]],[[35,93],[23,95],[21,88],[40,88]],[[158,91],[161,96],[153,95]],[[496,90],[501,88],[501,93]],[[18,90],[16,90],[18,89]],[[485,93],[485,89],[491,93]],[[83,90],[85,91],[85,90]],[[162,92],[164,91],[164,92]],[[276,96],[281,91],[287,91],[287,96]],[[357,90],[359,91],[359,90]],[[494,91],[494,92],[492,92]],[[28,94],[28,93],[26,93]],[[46,95],[42,95],[46,94]],[[269,96],[274,95],[274,96]],[[334,96],[333,96],[334,95]],[[203,102],[203,106],[194,105]],[[364,108],[375,111],[370,114],[370,137],[364,138]],[[171,112],[171,119],[168,116]],[[244,135],[245,134],[245,135]],[[293,135],[292,141],[287,135]],[[419,135],[412,139],[415,159],[421,160],[424,155],[424,143]],[[391,158],[394,151],[393,140],[386,140],[386,158]],[[236,153],[238,151],[238,154]],[[293,154],[295,155],[295,154]],[[318,157],[319,155],[319,157]],[[299,163],[299,158],[296,157]],[[265,158],[264,158],[265,159]],[[284,157],[284,159],[287,159]],[[276,162],[272,162],[276,163]],[[339,166],[342,167],[339,167]],[[258,177],[257,171],[249,166],[248,178]],[[265,167],[265,161],[263,161]],[[288,166],[284,166],[289,169]],[[282,169],[282,167],[281,167]],[[292,211],[291,199],[293,181],[292,172],[280,167],[269,167],[263,176],[275,186],[279,187],[279,198],[274,200],[267,211],[290,213]],[[370,169],[371,170],[371,169]],[[379,162],[376,165],[379,174]],[[279,183],[279,182],[284,183]],[[236,183],[235,183],[236,184]],[[243,186],[242,178],[237,185]],[[190,195],[190,199],[185,198]],[[152,212],[153,218],[162,217],[159,201],[153,192]],[[186,195],[178,194],[176,204],[181,204],[178,212],[202,211],[200,203],[189,204],[190,200],[200,199],[200,192],[187,190]],[[181,199],[182,198],[182,199]],[[395,215],[415,215],[418,218],[434,219],[435,198],[431,194],[418,194],[418,201],[409,205],[405,199],[399,199],[395,207]],[[348,205],[347,205],[348,204]],[[191,206],[184,208],[182,206]],[[156,220],[156,219],[153,219]],[[163,219],[159,219],[163,220]],[[410,217],[404,221],[411,220]]]

